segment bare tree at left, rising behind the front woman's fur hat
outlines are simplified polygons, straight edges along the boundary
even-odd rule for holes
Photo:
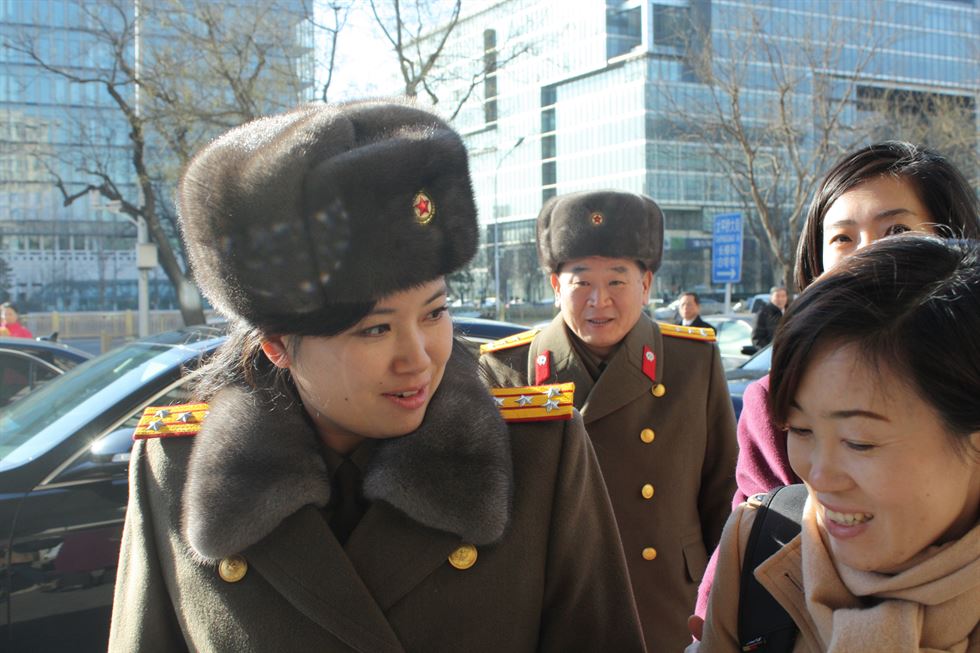
[[[5,45],[72,84],[97,87],[123,119],[127,147],[103,147],[111,136],[81,133],[86,147],[71,155],[73,179],[60,172],[64,153],[48,169],[65,206],[94,192],[134,222],[145,221],[184,322],[200,323],[200,296],[183,256],[171,193],[179,171],[208,139],[313,97],[312,65],[299,68],[306,59],[297,39],[312,18],[312,3],[297,9],[282,0],[235,6],[138,0],[138,16],[133,7],[132,0],[80,3],[94,59],[104,62],[98,69],[47,59],[38,33]],[[79,174],[87,181],[74,181]]]

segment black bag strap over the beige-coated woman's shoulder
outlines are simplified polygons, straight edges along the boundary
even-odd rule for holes
[[[778,487],[761,500],[759,513],[749,533],[742,561],[738,599],[738,638],[743,651],[791,653],[796,641],[796,624],[753,573],[759,565],[800,534],[806,486],[802,483]]]

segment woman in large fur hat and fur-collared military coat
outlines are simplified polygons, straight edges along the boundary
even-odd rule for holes
[[[179,213],[231,335],[137,430],[110,650],[642,650],[571,389],[492,394],[454,346],[455,132],[301,107],[205,148]]]

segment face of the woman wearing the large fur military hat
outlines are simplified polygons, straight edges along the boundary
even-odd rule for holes
[[[411,433],[452,351],[446,283],[385,297],[339,335],[290,338],[283,337],[290,373],[327,446],[344,453],[364,438]]]

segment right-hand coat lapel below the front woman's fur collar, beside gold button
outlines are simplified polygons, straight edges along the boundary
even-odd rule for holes
[[[387,612],[462,544],[459,536],[421,527],[375,502],[347,543],[347,555],[382,611]]]

